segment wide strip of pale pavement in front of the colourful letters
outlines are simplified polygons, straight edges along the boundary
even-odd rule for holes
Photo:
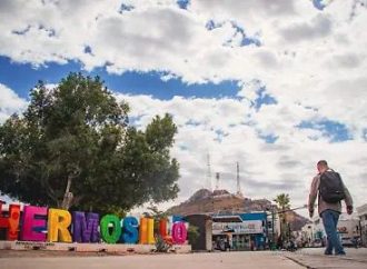
[[[2,269],[304,269],[271,251],[0,258]]]

